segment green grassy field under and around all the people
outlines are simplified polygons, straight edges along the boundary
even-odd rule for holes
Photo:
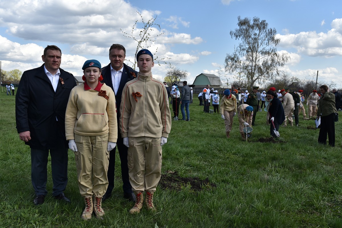
[[[14,97],[1,93],[0,107],[0,227],[342,227],[341,118],[335,125],[335,147],[319,145],[318,130],[307,129],[314,120],[304,121],[301,114],[299,127],[280,127],[277,143],[259,142],[269,137],[266,112],[258,112],[246,142],[240,139],[237,117],[227,139],[221,116],[203,113],[196,97],[191,121],[172,121],[162,174],[208,178],[209,183],[199,191],[187,184],[177,190],[158,186],[157,212],[131,215],[133,203],[122,198],[117,159],[114,194],[103,203],[104,219],[85,222],[74,154],[69,151],[65,191],[72,203],[51,197],[49,164],[49,194],[35,206],[30,149],[15,129]]]

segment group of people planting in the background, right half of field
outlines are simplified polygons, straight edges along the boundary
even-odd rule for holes
[[[230,132],[233,124],[233,117],[238,113],[239,118],[239,130],[242,139],[246,139],[246,134],[243,132],[243,128],[247,126],[254,126],[256,113],[260,108],[264,107],[264,111],[267,112],[266,123],[270,125],[270,134],[272,137],[276,137],[276,131],[279,130],[279,126],[283,124],[284,127],[289,124],[293,126],[293,118],[295,125],[299,126],[299,110],[303,111],[303,119],[306,118],[305,109],[303,105],[304,99],[302,99],[303,90],[298,92],[291,92],[288,88],[278,90],[274,87],[269,90],[263,91],[260,100],[261,107],[259,108],[260,100],[258,99],[259,87],[254,86],[252,92],[247,95],[246,101],[237,106],[236,94],[238,92],[235,87],[232,86],[232,90],[226,89],[224,91],[224,97],[221,100],[220,113],[222,119],[225,120],[225,130],[227,138],[230,137]],[[242,94],[242,93],[241,93]],[[247,94],[247,90],[245,92]],[[281,94],[279,96],[279,94]],[[317,95],[317,91],[313,90],[312,94],[307,99],[307,104],[310,104],[309,117],[315,116],[315,119],[321,119],[320,132],[318,142],[326,144],[327,135],[329,137],[329,145],[335,145],[335,127],[334,122],[338,121],[338,109],[340,107],[341,95],[336,89],[332,92],[329,91],[328,86],[322,85],[320,87],[320,98]],[[242,96],[243,99],[244,96]],[[316,110],[317,109],[317,110]]]

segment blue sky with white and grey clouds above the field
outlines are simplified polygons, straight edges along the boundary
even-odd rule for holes
[[[0,60],[6,71],[36,68],[44,47],[54,44],[62,49],[61,68],[81,76],[85,60],[107,65],[110,45],[120,43],[133,61],[137,43],[122,31],[131,33],[137,20],[138,37],[140,12],[145,22],[157,16],[160,29],[155,26],[152,36],[163,33],[148,49],[187,70],[191,84],[200,73],[224,69],[226,54],[239,42],[229,35],[237,17],[257,16],[277,30],[277,50],[291,57],[282,70],[300,79],[319,71],[319,81],[342,88],[341,6],[339,0],[0,0]],[[152,72],[162,80],[167,69],[161,63]]]

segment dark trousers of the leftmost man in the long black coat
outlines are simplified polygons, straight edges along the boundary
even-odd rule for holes
[[[66,188],[68,183],[68,149],[50,149],[51,173],[52,173],[52,195],[57,196]],[[48,194],[46,183],[48,179],[48,157],[49,149],[31,148],[31,182],[36,195]]]

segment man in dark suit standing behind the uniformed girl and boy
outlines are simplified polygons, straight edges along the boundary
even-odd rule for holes
[[[125,84],[135,78],[138,73],[131,67],[123,63],[126,58],[126,49],[121,44],[113,44],[109,48],[109,60],[110,63],[102,68],[103,80],[102,83],[106,83],[111,87],[115,93],[116,108],[120,110],[122,89]],[[117,112],[117,120],[120,119],[120,112]],[[119,123],[118,123],[119,126]],[[132,186],[129,182],[128,175],[128,163],[127,163],[127,151],[128,147],[123,144],[120,132],[118,131],[118,140],[116,143],[118,147],[120,161],[121,161],[121,176],[122,176],[122,189],[123,197],[135,202],[135,195],[132,191]],[[109,185],[102,201],[105,201],[111,196],[111,192],[114,188],[114,172],[115,172],[115,151],[116,147],[109,153],[109,167],[108,167],[108,181]]]

